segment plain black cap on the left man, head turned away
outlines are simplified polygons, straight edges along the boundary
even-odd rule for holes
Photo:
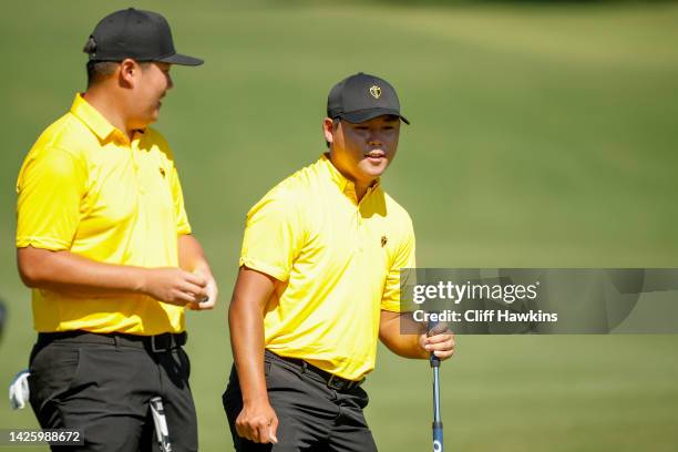
[[[93,42],[92,42],[93,41]],[[134,8],[115,11],[103,18],[85,45],[90,61],[158,61],[199,65],[203,60],[176,53],[172,31],[164,17]]]

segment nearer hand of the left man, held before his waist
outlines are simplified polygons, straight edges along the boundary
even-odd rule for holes
[[[141,290],[158,301],[186,306],[207,296],[207,279],[181,268],[148,268]]]

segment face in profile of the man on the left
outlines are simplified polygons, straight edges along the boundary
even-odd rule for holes
[[[167,90],[172,89],[172,78],[170,76],[168,63],[146,63],[140,65],[141,72],[137,74],[134,86],[133,104],[135,111],[135,124],[138,129],[157,121],[162,97]]]

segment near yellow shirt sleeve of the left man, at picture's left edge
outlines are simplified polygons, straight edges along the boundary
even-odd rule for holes
[[[72,153],[31,151],[17,182],[17,247],[70,249],[86,192],[84,162]]]

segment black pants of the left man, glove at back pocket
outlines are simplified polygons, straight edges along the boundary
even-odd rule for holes
[[[197,451],[197,420],[184,350],[153,352],[86,333],[39,341],[30,402],[43,429],[79,429],[84,446],[54,451],[157,451],[148,400],[163,399],[173,451]]]

